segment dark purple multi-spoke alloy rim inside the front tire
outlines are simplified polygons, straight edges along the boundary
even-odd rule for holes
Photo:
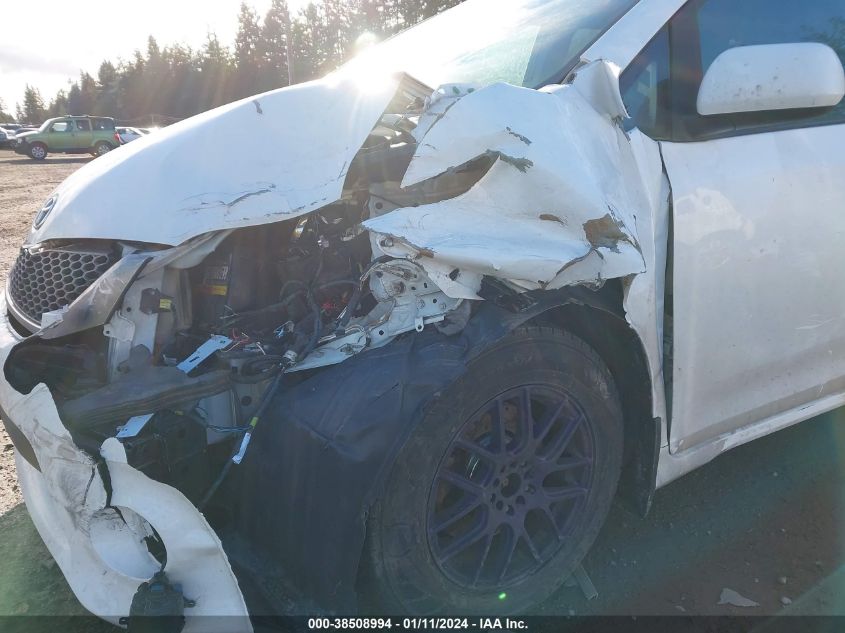
[[[566,391],[524,385],[458,431],[435,474],[427,531],[450,579],[503,589],[549,562],[585,517],[595,441]]]

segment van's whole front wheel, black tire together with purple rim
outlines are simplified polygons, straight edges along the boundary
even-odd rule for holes
[[[516,395],[523,393],[524,398]],[[495,408],[485,409],[497,396],[501,397]],[[541,396],[548,400],[548,406],[543,404]],[[553,404],[558,396],[561,404]],[[523,406],[521,402],[530,404],[513,413]],[[550,413],[552,410],[555,413]],[[570,415],[576,410],[580,412],[577,418]],[[485,413],[480,414],[480,411]],[[493,411],[496,419],[504,420],[501,427],[490,417],[494,415],[490,413]],[[529,411],[529,414],[520,411]],[[530,427],[526,427],[524,420],[529,418],[532,422]],[[551,422],[544,426],[539,418]],[[564,421],[564,418],[569,421]],[[575,419],[578,421],[573,422]],[[512,425],[513,430],[508,425]],[[569,434],[569,439],[563,439],[569,433],[567,429],[570,425],[574,425],[575,430]],[[485,431],[485,428],[489,430]],[[506,459],[510,460],[510,455],[517,455],[522,450],[519,454],[523,457],[533,457],[501,466],[501,461],[495,461],[501,459],[497,455],[490,457],[492,468],[488,467],[487,458],[480,457],[481,453],[476,455],[475,449],[485,443],[488,435],[493,436],[494,428],[506,430],[501,440],[501,451],[494,440],[487,442],[490,454],[508,454]],[[520,429],[523,428],[533,430],[522,435]],[[543,431],[544,428],[551,430]],[[477,437],[481,439],[473,444],[473,450],[467,452],[470,457],[464,459],[463,449],[460,448],[466,444],[463,440],[473,433],[477,434],[478,429],[481,429],[482,435]],[[544,436],[544,433],[548,434]],[[577,447],[567,448],[567,443],[572,444],[576,440]],[[456,443],[460,441],[463,443]],[[519,449],[519,446],[524,448]],[[554,452],[558,446],[564,446],[563,453]],[[385,612],[415,614],[530,611],[570,577],[592,546],[616,493],[622,448],[623,422],[619,396],[610,372],[598,354],[582,340],[560,330],[545,327],[518,329],[475,360],[467,373],[444,391],[398,455],[368,522],[362,576],[367,606]],[[547,451],[547,457],[551,455],[552,459],[544,460],[542,451]],[[588,467],[582,465],[576,470],[571,464],[577,463],[577,457],[565,457],[568,451],[576,455],[579,451],[583,455],[589,453],[593,461]],[[475,462],[470,468],[472,459]],[[444,478],[447,474],[449,479],[452,478],[453,468],[464,480],[477,479],[476,483],[484,492],[470,494],[458,491],[459,495],[466,494],[470,500],[460,504],[455,502],[444,513],[441,506],[454,493],[449,488],[452,482]],[[506,468],[522,470],[506,472]],[[557,471],[546,475],[550,468]],[[569,470],[564,471],[564,468]],[[477,477],[476,472],[479,473]],[[585,475],[585,472],[588,474]],[[558,482],[554,486],[549,483],[553,477]],[[567,483],[561,484],[561,477],[567,479]],[[579,478],[589,480],[589,485],[577,483],[581,481]],[[539,483],[534,486],[529,481]],[[549,505],[549,497],[557,491],[570,490],[568,486],[575,485],[573,481],[577,486],[571,489],[581,497]],[[525,492],[521,492],[523,486]],[[584,486],[586,492],[583,491]],[[498,505],[494,505],[494,498]],[[495,530],[484,537],[483,546],[473,546],[478,548],[477,560],[481,561],[480,564],[472,567],[469,563],[461,563],[467,565],[470,571],[480,570],[475,572],[474,587],[473,583],[461,580],[463,572],[455,562],[459,556],[445,556],[449,546],[458,542],[458,537],[449,531],[459,528],[438,531],[434,520],[444,514],[452,517],[460,515],[459,510],[450,508],[471,506],[473,499],[482,505],[453,526],[466,522],[471,526],[478,524],[482,526],[478,529],[488,532]],[[522,505],[518,506],[520,502]],[[568,509],[561,507],[570,503]],[[537,509],[538,504],[549,511],[541,512]],[[439,513],[438,509],[441,510]],[[516,518],[513,514],[507,515],[508,512],[516,512]],[[572,514],[566,514],[568,512]],[[568,518],[563,518],[564,514]],[[565,522],[565,528],[561,528],[558,521]],[[514,522],[516,527],[512,527]],[[491,527],[494,524],[499,527]],[[467,529],[471,540],[476,533],[472,530],[476,528]],[[520,536],[517,533],[519,529],[523,530],[521,534],[531,534],[530,540],[535,541],[530,547],[531,557],[527,557],[525,552],[529,539]],[[499,559],[504,568],[499,577],[512,580],[499,581],[499,568],[493,567],[489,556],[496,539],[505,538],[506,533],[506,545],[502,549],[504,556],[511,544],[516,543],[517,549],[511,550],[511,558]],[[540,550],[539,537],[544,534],[547,545]],[[454,541],[449,542],[448,539],[453,536]],[[447,539],[446,547],[443,547],[444,538]],[[488,540],[490,544],[487,544]],[[460,557],[470,560],[470,554],[475,556],[474,551],[469,547],[460,550]],[[508,564],[515,565],[517,553],[530,564],[522,572],[514,568],[512,573],[508,573]],[[482,558],[482,554],[487,558]],[[507,560],[511,562],[504,562]],[[482,578],[484,583],[479,583]]]

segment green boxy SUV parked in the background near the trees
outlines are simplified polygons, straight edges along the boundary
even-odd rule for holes
[[[35,132],[17,137],[15,152],[43,160],[49,152],[102,156],[119,145],[114,119],[94,116],[63,116],[48,119]]]

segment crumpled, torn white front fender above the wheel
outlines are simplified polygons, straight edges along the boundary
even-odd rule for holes
[[[454,283],[442,288],[454,297],[471,297],[481,275],[531,290],[643,272],[636,216],[649,201],[615,123],[624,113],[609,96],[615,74],[599,61],[557,90],[495,84],[438,99],[402,186],[485,155],[493,167],[463,195],[364,225],[387,238],[386,253],[412,253],[432,278],[449,271]]]

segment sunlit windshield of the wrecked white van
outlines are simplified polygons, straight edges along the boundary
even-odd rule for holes
[[[467,0],[367,49],[341,72],[404,71],[431,87],[559,82],[638,0]]]

